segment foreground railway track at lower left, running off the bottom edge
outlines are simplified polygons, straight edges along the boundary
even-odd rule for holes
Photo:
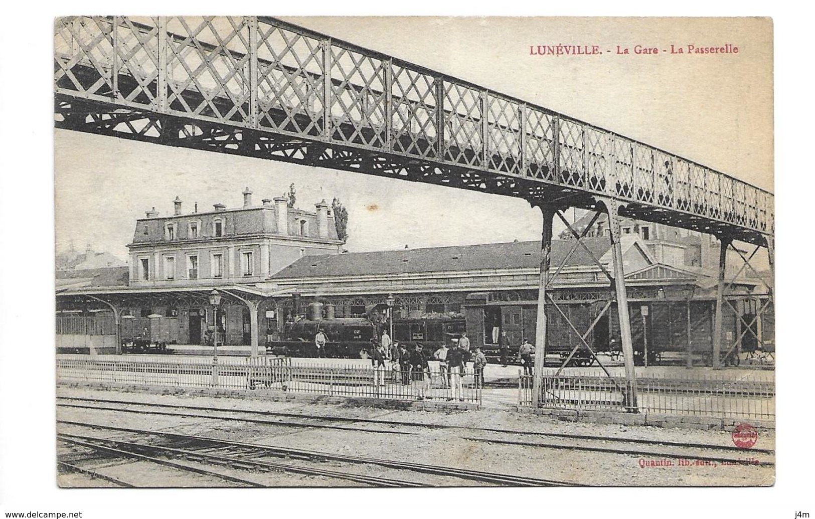
[[[284,446],[270,446],[258,443],[233,442],[220,438],[191,436],[179,433],[156,432],[144,429],[130,429],[103,424],[87,424],[69,420],[58,420],[58,424],[84,429],[104,430],[127,435],[128,439],[100,438],[87,434],[59,433],[59,441],[80,446],[87,451],[102,451],[121,458],[147,460],[192,472],[204,471],[208,475],[222,477],[240,486],[265,486],[257,477],[246,479],[234,475],[214,472],[210,469],[179,463],[172,459],[181,458],[187,462],[207,465],[221,465],[238,471],[277,471],[300,473],[310,476],[328,477],[369,486],[461,486],[465,482],[478,482],[495,486],[572,486],[569,482],[540,479],[535,477],[513,476],[511,474],[489,473],[466,468],[446,467],[434,464],[417,464],[399,460],[383,460],[328,452],[306,451]],[[136,438],[132,438],[136,437]],[[281,463],[270,459],[284,458],[299,463]],[[315,463],[333,462],[346,465],[341,471],[315,467]],[[415,477],[421,474],[421,481],[405,477],[384,477],[355,472],[354,467],[376,465],[389,468],[397,473],[407,473]],[[427,476],[435,479],[429,481]]]

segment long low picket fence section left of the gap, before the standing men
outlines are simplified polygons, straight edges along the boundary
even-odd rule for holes
[[[59,355],[57,380],[198,389],[274,390],[339,397],[435,400],[480,405],[473,370],[424,372],[392,368],[296,365],[291,358],[172,358]]]

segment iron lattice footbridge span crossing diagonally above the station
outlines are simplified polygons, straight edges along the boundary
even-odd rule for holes
[[[59,128],[773,235],[767,191],[281,20],[64,17],[54,45]]]

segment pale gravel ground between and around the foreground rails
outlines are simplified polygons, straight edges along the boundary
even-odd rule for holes
[[[727,431],[694,429],[662,429],[645,426],[618,424],[581,424],[555,420],[548,416],[520,414],[513,411],[394,411],[377,407],[352,407],[344,405],[312,404],[302,402],[267,402],[240,398],[214,398],[189,395],[161,395],[126,393],[102,389],[59,387],[58,396],[80,398],[110,398],[129,402],[155,402],[245,409],[253,411],[284,411],[307,416],[345,416],[353,418],[399,420],[414,424],[447,424],[462,427],[486,427],[514,429],[539,433],[571,433],[598,435],[608,440],[614,438],[641,438],[661,442],[694,442],[711,445],[732,446]],[[291,446],[312,451],[324,451],[344,455],[376,457],[389,460],[407,460],[422,464],[441,464],[451,467],[472,468],[488,472],[509,473],[528,477],[540,477],[581,485],[600,486],[767,486],[774,482],[773,466],[746,465],[696,465],[646,466],[648,462],[662,463],[662,458],[641,458],[637,455],[615,455],[601,452],[554,450],[544,447],[513,446],[491,442],[474,442],[466,436],[483,436],[483,433],[466,429],[419,429],[418,435],[383,434],[337,429],[293,428],[266,424],[249,424],[240,421],[209,420],[205,418],[176,416],[143,416],[116,411],[97,411],[60,407],[59,419],[87,421],[135,429],[173,431],[192,435],[224,438],[243,442],[274,446]],[[364,425],[360,425],[363,426]],[[382,429],[382,426],[377,427]],[[60,425],[59,431],[70,429]],[[416,430],[416,429],[413,429]],[[102,433],[99,433],[101,436]],[[489,438],[492,438],[491,436]],[[524,442],[549,442],[549,438],[519,435],[500,435],[503,439]],[[756,448],[773,449],[774,431],[760,430]],[[615,444],[616,445],[616,444]],[[661,450],[659,446],[643,446],[649,450]],[[737,457],[738,453],[729,455]],[[749,457],[748,451],[740,456]],[[767,460],[764,455],[762,460]],[[772,460],[772,457],[769,458]],[[693,460],[691,460],[693,462]],[[288,461],[287,461],[288,463]],[[343,464],[320,464],[322,468],[343,470]],[[427,476],[399,474],[390,469],[371,465],[355,465],[355,472],[378,474],[386,477],[404,477],[428,483],[450,485],[471,484],[431,480]],[[151,480],[143,475],[148,470],[139,464],[121,468],[124,473],[106,473],[126,481]],[[170,468],[165,468],[171,471]],[[178,471],[174,471],[178,472]],[[152,470],[149,471],[152,474]],[[296,474],[268,474],[263,482],[270,486],[353,486],[351,482],[332,481],[327,478],[300,476]],[[74,486],[81,482],[77,475],[60,476],[61,486]],[[183,477],[181,477],[183,479]],[[92,480],[91,480],[92,481]],[[153,480],[158,481],[158,480]],[[191,486],[182,484],[166,474],[158,486]],[[76,485],[84,486],[84,485]],[[99,483],[99,486],[104,486]],[[192,486],[212,486],[210,484]]]

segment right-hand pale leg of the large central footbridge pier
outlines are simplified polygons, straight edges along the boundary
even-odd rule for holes
[[[629,412],[638,412],[637,375],[634,372],[634,344],[631,339],[631,316],[628,314],[628,292],[625,288],[625,271],[623,270],[623,247],[620,244],[619,202],[601,200],[609,215],[609,235],[614,256],[615,298],[619,318],[620,341],[623,343],[623,361],[625,363],[625,394],[623,405]]]

